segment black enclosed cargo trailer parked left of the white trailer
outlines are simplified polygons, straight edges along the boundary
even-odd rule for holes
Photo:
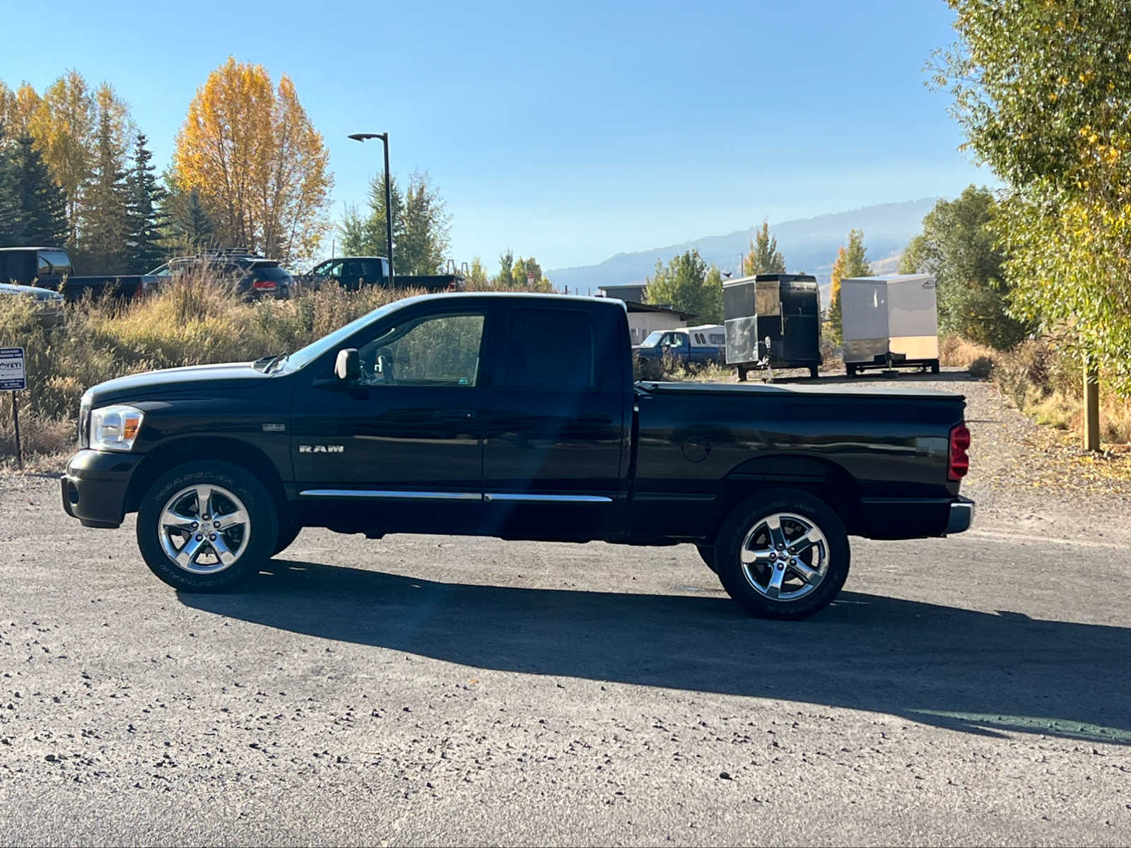
[[[808,274],[759,274],[723,284],[726,364],[739,379],[754,369],[821,365],[821,301]],[[767,349],[767,339],[769,347]]]

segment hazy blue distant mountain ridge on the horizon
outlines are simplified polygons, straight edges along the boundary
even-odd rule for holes
[[[895,272],[898,256],[922,230],[923,216],[938,198],[920,198],[892,204],[865,206],[849,211],[798,218],[782,224],[770,224],[770,235],[778,240],[778,250],[785,257],[791,272],[805,271],[817,277],[821,288],[829,285],[832,260],[837,248],[848,241],[852,228],[864,231],[867,257],[881,267],[877,270]],[[603,262],[575,268],[546,271],[558,289],[569,286],[570,292],[596,292],[598,286],[642,283],[653,272],[656,261],[666,262],[672,257],[691,249],[724,271],[736,271],[740,253],[749,250],[760,225],[739,230],[726,235],[708,235],[682,244],[670,244],[636,253],[618,253]]]

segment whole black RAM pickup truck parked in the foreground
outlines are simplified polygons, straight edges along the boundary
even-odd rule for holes
[[[87,527],[137,512],[143,557],[188,591],[313,526],[691,543],[746,609],[794,618],[840,590],[849,535],[969,527],[964,406],[633,383],[620,301],[421,295],[290,355],[94,387],[62,502]]]

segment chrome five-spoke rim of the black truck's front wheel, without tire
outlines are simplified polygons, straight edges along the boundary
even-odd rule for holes
[[[182,488],[165,502],[157,519],[165,555],[193,574],[231,568],[251,539],[251,517],[226,488],[207,483]]]

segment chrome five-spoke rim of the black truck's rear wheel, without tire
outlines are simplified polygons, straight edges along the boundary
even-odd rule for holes
[[[775,512],[759,519],[739,550],[742,574],[759,595],[771,600],[803,598],[829,570],[829,543],[810,519]]]

